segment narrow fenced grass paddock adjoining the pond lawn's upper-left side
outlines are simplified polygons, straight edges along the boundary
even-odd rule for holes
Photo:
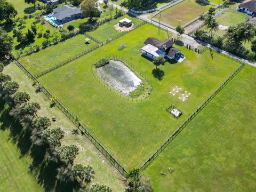
[[[76,35],[67,39],[65,42],[52,45],[37,53],[20,58],[20,61],[31,73],[36,75],[45,69],[89,50],[93,46],[97,46],[97,43],[94,41],[91,41],[90,44],[85,44],[85,38],[85,35]]]

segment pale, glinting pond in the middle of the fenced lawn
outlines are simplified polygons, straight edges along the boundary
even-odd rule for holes
[[[109,64],[97,68],[97,73],[109,86],[124,95],[129,95],[141,83],[141,79],[121,61],[110,60]]]

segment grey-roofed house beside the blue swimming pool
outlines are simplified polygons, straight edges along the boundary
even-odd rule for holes
[[[52,17],[57,22],[63,24],[74,19],[82,17],[81,8],[77,8],[73,5],[62,5],[53,9]]]

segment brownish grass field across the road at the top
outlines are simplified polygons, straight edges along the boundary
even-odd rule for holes
[[[199,14],[207,12],[210,7],[213,6],[201,5],[196,3],[195,0],[185,0],[161,12],[161,21],[173,27],[183,26],[197,18]],[[160,14],[156,15],[154,19],[159,20]]]

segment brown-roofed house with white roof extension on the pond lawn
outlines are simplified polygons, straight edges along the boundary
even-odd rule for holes
[[[156,38],[149,37],[144,44],[146,46],[141,48],[142,54],[151,59],[155,59],[160,55],[165,55],[169,59],[183,57],[180,50],[173,47],[174,42],[170,39],[159,41]]]

